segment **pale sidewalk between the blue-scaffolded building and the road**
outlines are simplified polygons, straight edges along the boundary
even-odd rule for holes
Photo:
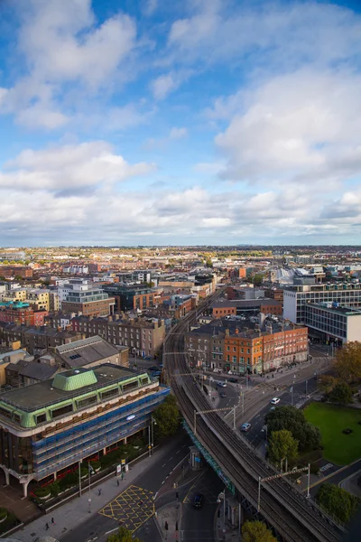
[[[80,498],[76,497],[69,500],[59,508],[50,511],[39,519],[35,519],[29,525],[16,531],[12,537],[15,537],[21,542],[34,542],[37,537],[43,537],[46,534],[59,540],[70,530],[79,527],[81,523],[90,519],[99,509],[104,508],[109,500],[113,500],[121,491],[125,491],[156,459],[159,459],[166,453],[166,447],[155,450],[151,457],[144,457],[133,466],[130,465],[129,471],[125,473],[123,481],[120,478],[116,478],[116,475],[110,476],[105,481],[100,481],[90,491],[83,490]],[[117,486],[116,483],[118,479],[120,486]],[[98,495],[99,488],[101,489],[100,495]],[[51,524],[51,518],[54,519],[55,524]],[[46,523],[49,523],[50,529],[48,531],[45,530]]]

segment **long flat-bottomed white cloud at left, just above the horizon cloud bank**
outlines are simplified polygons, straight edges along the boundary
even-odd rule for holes
[[[123,156],[114,153],[111,145],[95,141],[42,151],[25,150],[5,164],[0,173],[0,188],[71,192],[124,182],[154,170],[154,164],[128,164]]]

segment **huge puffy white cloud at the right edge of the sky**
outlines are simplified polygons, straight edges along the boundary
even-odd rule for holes
[[[254,89],[238,112],[231,97],[234,115],[216,137],[222,176],[314,184],[360,173],[360,85],[350,71],[300,70]]]

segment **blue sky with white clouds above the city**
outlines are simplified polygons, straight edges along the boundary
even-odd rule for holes
[[[361,4],[0,0],[0,245],[360,244]]]

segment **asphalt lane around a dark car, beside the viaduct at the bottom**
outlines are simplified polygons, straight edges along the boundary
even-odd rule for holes
[[[207,471],[190,488],[187,498],[182,504],[180,530],[184,542],[214,542],[214,519],[218,508],[218,495],[224,490],[224,484],[216,472],[209,467]],[[196,493],[204,496],[201,509],[193,508]]]

